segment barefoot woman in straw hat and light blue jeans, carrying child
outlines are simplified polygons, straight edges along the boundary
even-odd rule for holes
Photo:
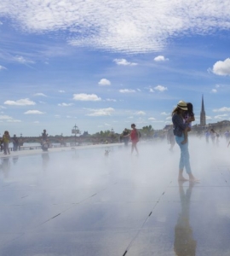
[[[191,122],[190,119],[187,119],[187,121],[185,121],[184,119],[185,111],[187,111],[187,103],[180,101],[178,102],[177,107],[172,112],[172,122],[174,125],[175,142],[181,148],[181,159],[179,164],[178,180],[187,181],[187,179],[183,177],[183,170],[185,167],[189,180],[197,181],[196,178],[193,177],[193,173],[190,166],[188,140],[187,140],[187,143],[182,143],[184,142],[184,139],[185,139],[184,131],[187,129],[188,123]],[[190,131],[189,128],[188,128],[188,131]]]

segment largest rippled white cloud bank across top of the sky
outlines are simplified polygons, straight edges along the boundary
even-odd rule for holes
[[[118,11],[122,10],[122,11]],[[123,53],[159,51],[178,35],[229,30],[227,1],[1,1],[25,32],[71,32],[72,45]]]

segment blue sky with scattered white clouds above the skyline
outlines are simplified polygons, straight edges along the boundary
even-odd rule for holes
[[[229,0],[0,0],[0,133],[230,120]]]

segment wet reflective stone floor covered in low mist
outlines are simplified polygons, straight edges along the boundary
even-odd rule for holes
[[[0,255],[229,256],[230,148],[189,143],[199,183],[166,142],[0,159]]]

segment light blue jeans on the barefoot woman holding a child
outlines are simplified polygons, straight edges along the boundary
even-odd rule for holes
[[[189,173],[192,173],[192,170],[191,170],[190,161],[189,161],[188,141],[185,144],[181,144],[183,140],[184,140],[184,135],[182,135],[181,137],[175,136],[175,142],[181,148],[181,159],[179,163],[179,169],[183,170],[185,167],[187,174],[189,174]]]

